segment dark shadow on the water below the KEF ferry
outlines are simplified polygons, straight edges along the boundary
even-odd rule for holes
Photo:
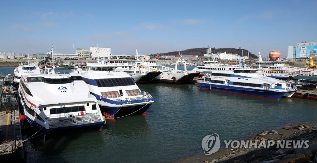
[[[102,134],[96,126],[87,126],[68,130],[49,131],[45,141],[35,127],[26,124],[24,143],[26,162],[73,162],[72,154],[85,155],[85,152],[100,146]],[[38,136],[37,136],[38,135]],[[31,137],[31,138],[30,138]],[[50,158],[45,159],[44,158]]]

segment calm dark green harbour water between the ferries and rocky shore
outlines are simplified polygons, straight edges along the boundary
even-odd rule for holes
[[[13,67],[0,67],[0,74]],[[192,68],[191,68],[192,69]],[[69,72],[69,70],[65,70]],[[267,100],[198,89],[195,84],[139,84],[155,99],[142,115],[91,128],[48,133],[26,141],[26,162],[173,162],[203,152],[204,136],[240,140],[250,133],[316,121],[316,101]],[[28,139],[36,131],[29,130]]]

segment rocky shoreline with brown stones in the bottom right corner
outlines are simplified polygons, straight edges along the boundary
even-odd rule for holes
[[[252,136],[249,141],[257,141],[257,147],[264,141],[266,145],[268,143],[274,144],[266,148],[221,148],[214,154],[209,156],[205,154],[198,154],[188,157],[184,160],[177,162],[201,162],[201,163],[301,163],[301,162],[317,162],[317,122],[309,122],[298,124],[295,126],[285,126],[279,130],[263,131]],[[302,148],[294,148],[296,142],[294,141],[306,141],[303,143]],[[278,143],[280,142],[280,143]],[[281,142],[289,142],[289,146],[281,148]],[[279,145],[277,145],[279,144]],[[286,148],[289,147],[289,148]]]

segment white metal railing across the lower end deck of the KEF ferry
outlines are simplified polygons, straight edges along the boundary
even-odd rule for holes
[[[80,124],[89,124],[100,122],[100,114],[86,114],[86,115],[79,115],[69,118],[53,118],[49,120],[49,128],[58,128],[58,127],[68,127],[68,126],[75,126]]]

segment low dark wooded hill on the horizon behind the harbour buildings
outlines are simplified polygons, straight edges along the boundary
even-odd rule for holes
[[[232,53],[232,54],[239,54],[241,56],[243,50],[243,56],[248,56],[248,50],[245,49],[236,49],[236,48],[211,48],[211,52],[212,53]],[[183,50],[180,51],[181,54],[183,55],[197,55],[197,56],[204,56],[204,54],[206,54],[206,48],[193,48],[193,49],[187,49],[187,50]],[[172,52],[168,52],[168,53],[159,53],[160,56],[162,55],[178,55],[179,51],[172,51]],[[249,53],[249,59],[256,59],[258,58],[258,56],[256,56],[253,53]]]

